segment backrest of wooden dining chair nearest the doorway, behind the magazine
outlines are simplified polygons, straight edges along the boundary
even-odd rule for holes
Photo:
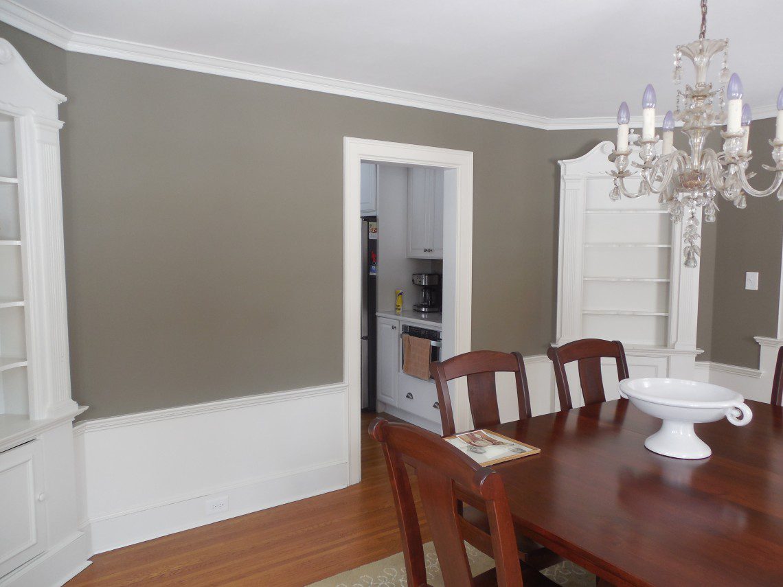
[[[500,423],[495,373],[503,371],[516,376],[519,418],[529,418],[531,412],[528,378],[525,376],[525,362],[519,353],[471,351],[431,364],[430,373],[435,379],[435,387],[438,388],[438,407],[444,436],[451,436],[456,431],[449,381],[467,376],[467,398],[471,404],[473,425],[476,428],[484,428]]]

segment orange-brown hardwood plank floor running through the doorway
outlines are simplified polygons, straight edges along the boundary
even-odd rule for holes
[[[361,483],[98,554],[68,587],[301,587],[399,553],[386,464],[380,445],[367,435],[374,416],[362,416]],[[429,540],[424,522],[422,531]]]

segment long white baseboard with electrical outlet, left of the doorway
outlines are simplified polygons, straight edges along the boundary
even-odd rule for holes
[[[162,506],[128,513],[118,513],[102,520],[89,520],[88,530],[94,553],[103,553],[137,542],[197,528],[247,513],[266,510],[283,503],[345,488],[348,463],[330,463],[311,470],[251,482],[240,487],[226,487],[215,493]],[[212,497],[227,497],[230,510],[209,515],[204,504]]]

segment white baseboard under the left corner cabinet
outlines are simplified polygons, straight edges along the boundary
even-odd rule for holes
[[[0,587],[65,585],[90,565],[88,537],[78,531],[0,578]]]

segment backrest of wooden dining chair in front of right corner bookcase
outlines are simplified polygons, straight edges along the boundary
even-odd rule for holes
[[[604,380],[601,377],[601,358],[614,358],[617,363],[617,376],[620,380],[628,379],[628,363],[626,351],[619,340],[602,340],[600,338],[584,338],[574,340],[560,347],[550,346],[547,357],[554,365],[554,380],[557,384],[557,395],[560,397],[560,409],[572,409],[571,391],[568,388],[568,377],[565,366],[572,361],[579,362],[579,384],[585,405],[606,402]]]

